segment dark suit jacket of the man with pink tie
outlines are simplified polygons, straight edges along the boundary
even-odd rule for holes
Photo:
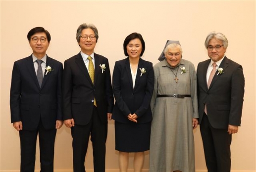
[[[208,89],[206,72],[209,63],[210,59],[200,62],[197,68],[199,123],[206,103],[208,120],[213,128],[240,126],[245,92],[243,68],[225,56],[219,66],[223,68],[223,73],[217,75],[216,71]]]

